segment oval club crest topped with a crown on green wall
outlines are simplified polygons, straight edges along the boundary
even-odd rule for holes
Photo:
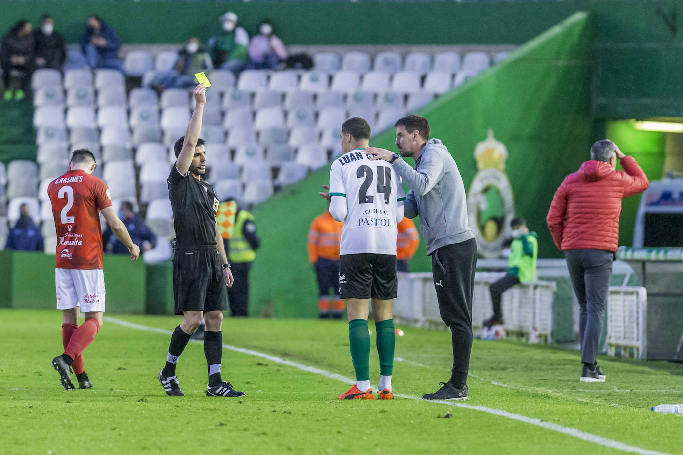
[[[510,220],[514,217],[514,198],[510,181],[505,175],[507,148],[488,130],[484,141],[474,151],[477,174],[467,194],[469,222],[479,254],[498,258],[503,242],[510,237]]]

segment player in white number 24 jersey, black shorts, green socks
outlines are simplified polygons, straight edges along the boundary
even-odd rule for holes
[[[354,117],[342,125],[342,151],[330,168],[330,213],[344,221],[339,246],[339,295],[346,299],[351,359],[356,385],[340,400],[372,400],[370,387],[369,302],[380,357],[378,398],[393,399],[391,372],[395,329],[396,225],[403,218],[403,184],[391,166],[370,161],[364,149],[370,140],[367,121]]]

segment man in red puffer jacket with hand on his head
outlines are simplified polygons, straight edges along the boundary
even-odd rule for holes
[[[617,159],[624,171],[617,171]],[[604,382],[596,362],[612,262],[619,244],[622,199],[650,186],[636,160],[608,139],[591,145],[591,160],[557,188],[548,211],[548,229],[564,252],[579,300],[581,382]]]

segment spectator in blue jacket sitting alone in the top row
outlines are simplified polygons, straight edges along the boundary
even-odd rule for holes
[[[102,22],[100,16],[93,14],[88,18],[87,29],[81,38],[81,51],[90,68],[123,71],[124,65],[119,59],[120,47],[119,34]]]

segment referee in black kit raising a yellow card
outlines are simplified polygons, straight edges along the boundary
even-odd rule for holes
[[[218,199],[213,188],[201,179],[206,173],[206,149],[204,140],[199,138],[206,88],[199,84],[193,94],[197,106],[185,136],[176,142],[178,160],[167,179],[176,227],[173,297],[176,314],[183,316],[183,320],[171,336],[159,383],[168,396],[184,396],[176,376],[176,364],[204,317],[204,355],[209,375],[206,395],[243,396],[244,393],[236,392],[230,383],[221,379],[221,325],[223,310],[227,310],[225,287],[232,286],[232,273],[216,223]]]

